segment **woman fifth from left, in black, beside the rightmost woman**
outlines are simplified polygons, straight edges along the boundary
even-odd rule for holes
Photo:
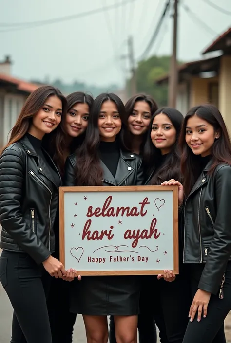
[[[165,107],[154,113],[144,149],[144,162],[151,174],[146,184],[160,185],[163,181],[172,178],[181,181],[178,139],[182,123],[183,115],[177,109]],[[154,168],[153,162],[155,162]],[[168,342],[174,343],[183,341],[188,325],[188,307],[191,302],[188,273],[182,265],[182,245],[182,230],[179,225],[179,275],[171,284],[156,279],[154,282],[155,294],[158,294],[158,299],[154,299],[154,303],[159,302]]]

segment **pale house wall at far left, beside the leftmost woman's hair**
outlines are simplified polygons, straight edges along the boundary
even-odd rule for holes
[[[8,142],[8,134],[15,125],[25,100],[24,95],[0,93],[0,146]]]

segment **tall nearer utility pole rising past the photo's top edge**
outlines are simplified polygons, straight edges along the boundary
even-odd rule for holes
[[[169,77],[169,106],[176,107],[178,68],[177,68],[177,19],[178,19],[178,1],[174,0],[173,14],[173,52],[171,57],[171,68]]]

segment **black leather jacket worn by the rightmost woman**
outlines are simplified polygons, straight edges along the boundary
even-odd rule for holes
[[[231,166],[210,161],[184,207],[184,263],[205,263],[199,289],[217,294],[231,255]]]

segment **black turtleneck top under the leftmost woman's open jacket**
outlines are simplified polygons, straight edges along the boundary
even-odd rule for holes
[[[38,154],[38,156],[44,161],[44,162],[47,162],[47,167],[50,169],[52,175],[53,175],[53,178],[54,178],[54,181],[57,185],[57,187],[60,186],[60,178],[59,178],[59,175],[57,173],[57,170],[54,166],[54,164],[52,163],[51,159],[49,158],[49,156],[44,152],[43,152],[43,149],[42,149],[42,141],[38,138],[36,138],[35,136],[32,136],[31,134],[27,133],[26,134],[27,138],[29,139],[31,145],[33,146],[33,148],[35,149],[36,153]]]

